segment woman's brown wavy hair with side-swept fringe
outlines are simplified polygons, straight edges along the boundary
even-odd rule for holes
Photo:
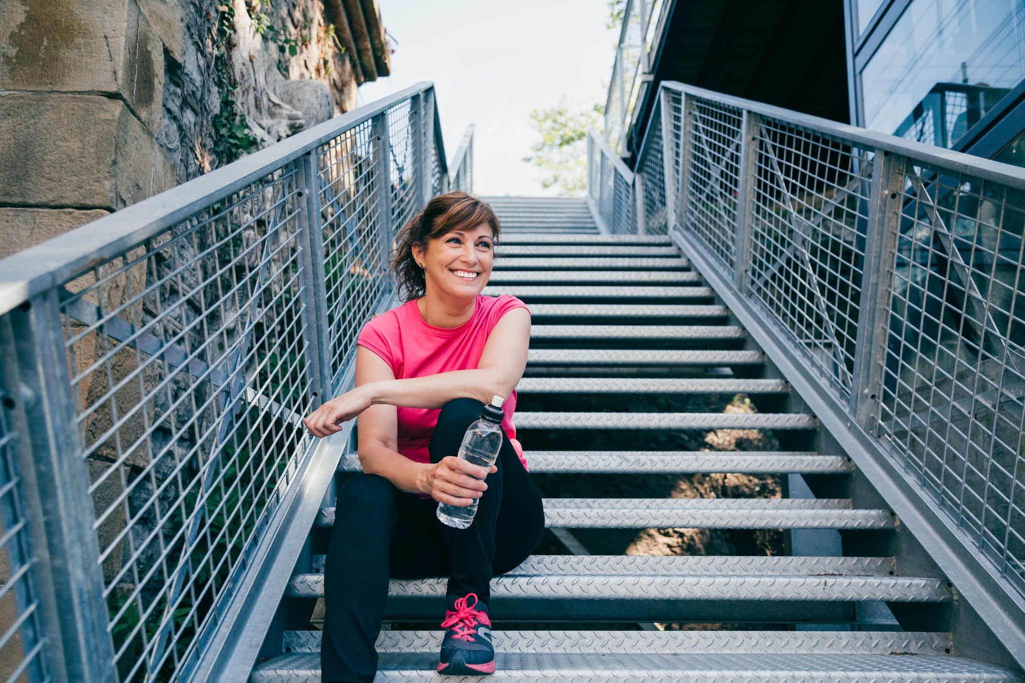
[[[474,229],[483,223],[491,226],[491,236],[497,245],[501,225],[487,202],[462,191],[439,195],[427,202],[423,210],[395,236],[392,272],[395,273],[399,298],[411,301],[423,296],[426,291],[423,269],[416,265],[416,259],[413,258],[414,246],[426,248],[428,242],[452,230]]]

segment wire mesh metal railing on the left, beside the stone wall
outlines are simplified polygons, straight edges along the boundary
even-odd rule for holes
[[[191,680],[220,656],[260,553],[291,543],[277,520],[323,495],[301,418],[352,382],[395,230],[448,185],[436,122],[420,84],[0,262],[0,677]],[[64,526],[31,527],[26,495]]]

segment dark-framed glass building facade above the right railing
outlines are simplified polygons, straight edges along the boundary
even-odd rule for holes
[[[845,0],[852,121],[1025,165],[1025,0]]]

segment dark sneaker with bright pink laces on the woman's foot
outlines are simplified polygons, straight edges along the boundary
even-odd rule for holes
[[[466,600],[474,598],[473,604]],[[491,645],[491,620],[475,593],[455,601],[455,611],[446,610],[442,628],[441,663],[438,673],[446,676],[480,676],[495,673],[495,648]]]

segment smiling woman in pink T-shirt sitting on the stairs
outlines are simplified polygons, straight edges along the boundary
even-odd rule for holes
[[[495,670],[491,578],[518,566],[544,530],[541,496],[516,440],[516,385],[527,365],[530,312],[512,296],[481,294],[499,224],[465,193],[436,197],[403,227],[392,261],[406,303],[367,323],[356,388],[305,419],[315,436],[360,416],[363,474],[338,492],[324,568],[324,683],[370,683],[377,671],[388,579],[448,575],[442,674]],[[504,438],[486,472],[456,457],[466,428],[493,395]],[[465,529],[438,504],[480,499]]]

